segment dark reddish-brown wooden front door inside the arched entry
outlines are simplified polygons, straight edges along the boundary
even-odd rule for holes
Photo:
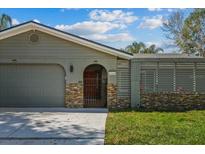
[[[105,107],[101,91],[102,71],[86,70],[84,72],[84,107]]]

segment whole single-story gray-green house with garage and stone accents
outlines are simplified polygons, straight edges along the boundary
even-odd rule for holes
[[[34,21],[0,31],[0,107],[201,108],[204,91],[202,57],[133,55]]]

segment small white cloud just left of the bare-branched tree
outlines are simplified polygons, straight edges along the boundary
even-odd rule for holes
[[[157,15],[153,17],[145,17],[143,21],[140,23],[140,25],[138,26],[138,28],[155,29],[155,28],[162,26],[163,21],[164,19],[161,15]]]

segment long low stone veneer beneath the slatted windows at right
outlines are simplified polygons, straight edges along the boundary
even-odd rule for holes
[[[140,106],[142,109],[155,111],[205,109],[205,94],[181,92],[141,94]]]

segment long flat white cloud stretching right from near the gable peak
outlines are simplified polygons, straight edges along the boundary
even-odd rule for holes
[[[83,21],[73,25],[56,25],[55,28],[78,35],[90,35],[96,33],[106,33],[110,30],[122,29],[124,27],[120,24],[110,22]]]

